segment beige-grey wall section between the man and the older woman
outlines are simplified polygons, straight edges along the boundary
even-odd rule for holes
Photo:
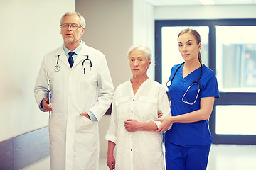
[[[76,0],[75,4],[86,21],[82,40],[105,54],[116,88],[132,77],[125,57],[132,45],[132,0]]]

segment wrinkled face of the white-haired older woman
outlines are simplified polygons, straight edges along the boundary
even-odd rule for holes
[[[142,76],[151,62],[147,60],[146,54],[142,50],[134,49],[129,53],[129,65],[133,75]]]

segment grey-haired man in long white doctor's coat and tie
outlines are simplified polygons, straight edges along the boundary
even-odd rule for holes
[[[105,55],[81,41],[85,19],[65,13],[60,24],[64,45],[43,57],[34,89],[41,111],[51,111],[50,169],[94,170],[99,166],[98,120],[112,102],[112,79]]]

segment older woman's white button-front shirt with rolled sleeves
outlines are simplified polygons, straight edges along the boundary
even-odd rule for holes
[[[130,81],[117,87],[114,93],[110,128],[106,140],[116,144],[116,170],[161,170],[165,169],[162,150],[162,134],[158,132],[128,132],[124,121],[134,119],[151,122],[158,117],[158,111],[171,115],[171,109],[164,86],[147,79],[141,84],[135,96]],[[155,122],[161,125],[161,122]]]

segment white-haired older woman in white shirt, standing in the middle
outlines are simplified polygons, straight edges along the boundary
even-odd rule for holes
[[[164,86],[149,79],[151,51],[144,45],[132,45],[127,59],[132,79],[120,84],[112,103],[108,140],[107,166],[110,170],[161,170],[164,167],[161,125],[154,122],[158,112],[171,116]]]

